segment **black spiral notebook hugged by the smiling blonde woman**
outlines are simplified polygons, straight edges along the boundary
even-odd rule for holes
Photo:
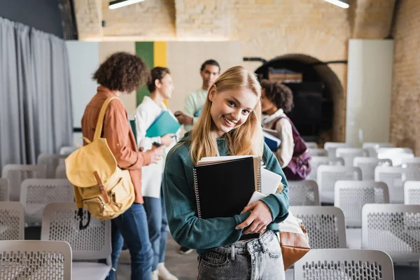
[[[229,157],[221,157],[229,158]],[[253,192],[260,189],[260,158],[199,162],[194,168],[198,218],[225,218],[240,214]],[[259,235],[243,235],[251,239]]]

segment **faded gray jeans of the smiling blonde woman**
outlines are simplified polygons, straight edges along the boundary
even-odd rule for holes
[[[284,280],[283,256],[276,234],[214,248],[198,258],[197,280]]]

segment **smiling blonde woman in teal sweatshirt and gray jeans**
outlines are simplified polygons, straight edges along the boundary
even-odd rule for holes
[[[275,232],[288,216],[288,185],[263,141],[260,98],[253,73],[241,66],[228,69],[211,85],[197,126],[167,157],[163,190],[169,228],[179,244],[197,249],[198,279],[284,279]],[[216,155],[262,156],[266,168],[283,177],[283,190],[230,218],[197,218],[193,167]],[[251,233],[262,235],[239,241]]]

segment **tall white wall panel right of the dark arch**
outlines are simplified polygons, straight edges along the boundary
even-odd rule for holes
[[[346,142],[388,142],[393,40],[349,41]]]

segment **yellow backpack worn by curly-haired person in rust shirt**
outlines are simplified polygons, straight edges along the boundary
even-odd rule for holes
[[[99,113],[94,138],[86,146],[80,146],[66,158],[67,179],[74,186],[74,196],[79,209],[80,229],[83,225],[83,207],[100,221],[116,218],[123,214],[134,202],[134,186],[128,170],[118,167],[116,158],[105,138],[101,137],[106,107],[112,99],[109,97]],[[128,125],[128,123],[127,123]]]

